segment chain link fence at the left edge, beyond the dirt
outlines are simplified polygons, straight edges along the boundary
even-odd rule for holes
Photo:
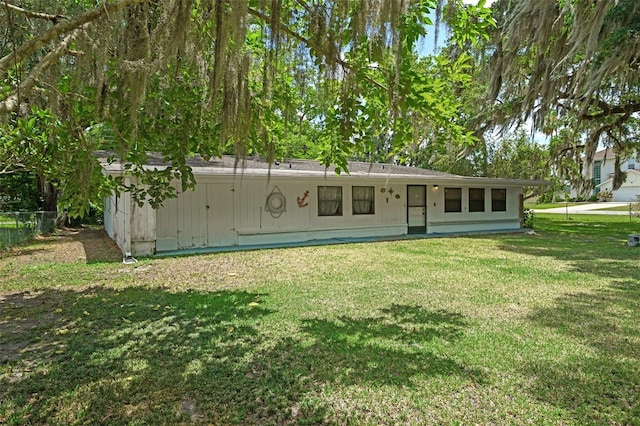
[[[56,212],[0,212],[0,250],[50,232]]]

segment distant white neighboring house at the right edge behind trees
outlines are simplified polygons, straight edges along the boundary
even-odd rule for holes
[[[595,153],[592,165],[594,194],[609,191],[613,193],[612,201],[636,201],[636,196],[640,195],[640,161],[636,157],[621,161],[620,169],[627,173],[627,178],[619,189],[613,191],[615,163],[615,154],[611,148]]]

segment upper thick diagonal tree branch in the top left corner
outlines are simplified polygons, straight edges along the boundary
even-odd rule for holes
[[[0,59],[0,75],[7,72],[7,70],[10,67],[15,66],[20,62],[24,61],[33,52],[48,45],[58,37],[64,34],[68,34],[69,32],[77,28],[80,28],[86,23],[100,19],[104,15],[117,12],[131,5],[142,3],[143,1],[145,0],[119,0],[119,1],[116,1],[115,3],[104,3],[96,7],[95,9],[81,13],[80,15],[76,16],[73,19],[64,20],[62,22],[57,23],[56,25],[44,31],[42,34],[38,35],[37,37],[24,42],[20,47],[15,49],[13,52],[1,58]],[[4,4],[5,5],[8,4],[6,0],[4,0]]]

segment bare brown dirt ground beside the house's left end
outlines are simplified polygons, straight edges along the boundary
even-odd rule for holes
[[[103,229],[63,228],[0,253],[0,263],[120,262],[122,252]]]

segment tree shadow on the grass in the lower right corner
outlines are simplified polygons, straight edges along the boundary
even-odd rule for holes
[[[640,418],[640,283],[616,282],[564,295],[530,320],[584,345],[579,354],[527,366],[532,395],[569,410],[583,423],[638,424]]]

